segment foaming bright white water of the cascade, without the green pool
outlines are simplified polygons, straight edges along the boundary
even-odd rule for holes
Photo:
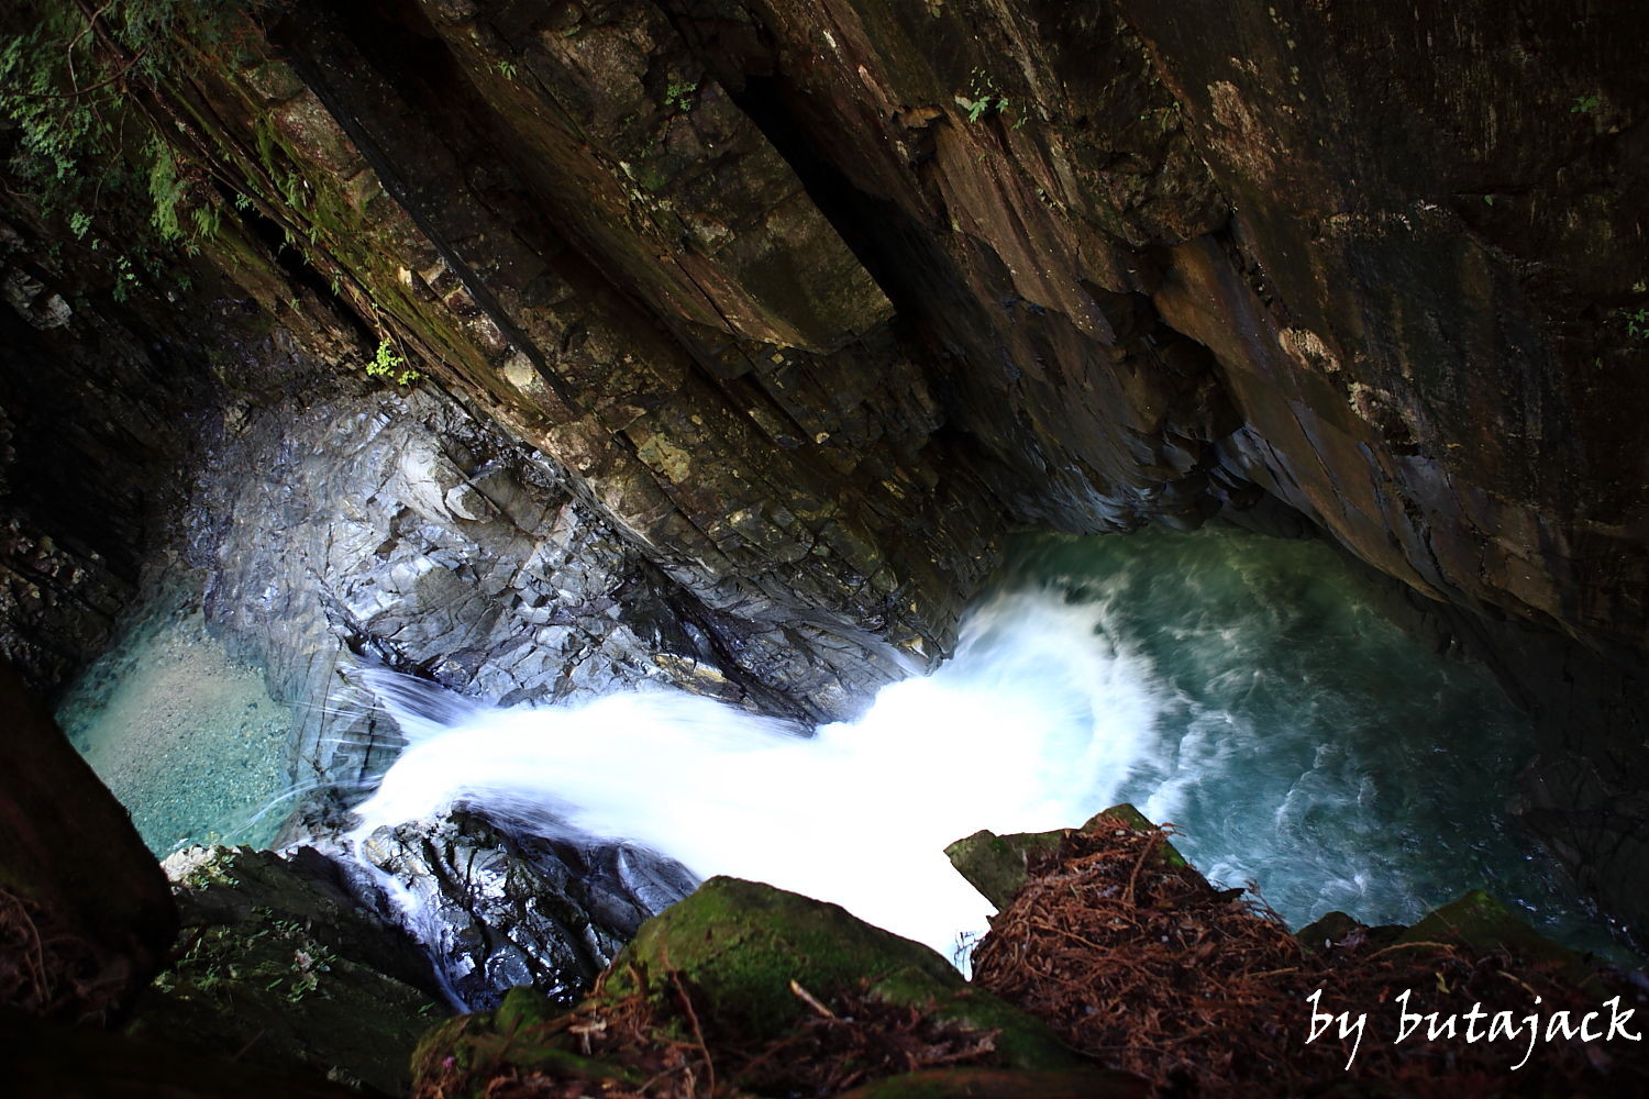
[[[836,901],[948,956],[991,906],[945,845],[1078,824],[1149,743],[1149,669],[1095,624],[1047,592],[996,596],[933,676],[813,737],[676,690],[475,709],[450,727],[409,715],[412,743],[358,807],[356,837],[467,802]]]

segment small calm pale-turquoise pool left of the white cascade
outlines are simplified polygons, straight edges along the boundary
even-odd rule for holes
[[[64,695],[58,723],[157,857],[206,842],[267,847],[282,824],[280,807],[262,811],[290,783],[292,712],[183,596],[124,628]]]

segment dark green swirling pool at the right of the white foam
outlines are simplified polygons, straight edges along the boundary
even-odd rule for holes
[[[1209,527],[1021,542],[998,600],[1055,596],[1154,699],[1118,794],[1291,924],[1410,923],[1482,886],[1553,938],[1608,931],[1507,822],[1534,730],[1478,667],[1387,621],[1319,542]]]

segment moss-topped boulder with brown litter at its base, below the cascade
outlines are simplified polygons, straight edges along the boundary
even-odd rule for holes
[[[717,1079],[734,1094],[836,1094],[866,1078],[877,1096],[1143,1094],[1088,1068],[1034,1018],[968,985],[932,949],[836,905],[768,885],[711,878],[643,924],[602,984],[557,1015],[526,990],[496,1012],[452,1020],[419,1048],[420,1096],[579,1094],[651,1076],[663,1096]],[[912,1068],[970,1064],[948,1074]],[[975,1076],[978,1073],[978,1076]],[[600,1084],[599,1081],[608,1081]]]

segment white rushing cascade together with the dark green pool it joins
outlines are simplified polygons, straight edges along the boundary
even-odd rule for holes
[[[950,954],[989,906],[947,844],[1131,801],[1181,825],[1210,880],[1257,885],[1294,926],[1332,908],[1408,923],[1486,886],[1606,947],[1506,822],[1527,720],[1385,621],[1327,547],[1148,531],[1039,539],[1016,560],[948,662],[811,737],[671,690],[404,715],[412,745],[358,835],[455,801],[566,821]]]

